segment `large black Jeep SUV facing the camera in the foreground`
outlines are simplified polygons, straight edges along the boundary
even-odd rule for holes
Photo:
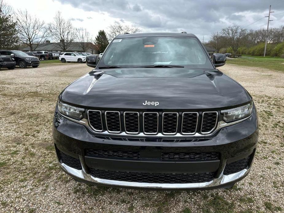
[[[53,138],[74,179],[162,190],[228,188],[258,142],[251,95],[193,34],[115,37],[96,68],[59,95]]]

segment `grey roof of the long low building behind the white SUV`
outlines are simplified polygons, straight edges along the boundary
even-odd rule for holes
[[[91,42],[86,42],[86,43],[91,44]],[[25,47],[22,50],[29,51],[30,48]],[[63,51],[63,49],[59,47],[58,43],[52,43],[52,42],[41,44],[36,49],[34,49],[34,51],[53,51],[53,50]],[[83,48],[80,46],[80,42],[72,42],[70,47],[68,47],[66,51],[83,52]]]

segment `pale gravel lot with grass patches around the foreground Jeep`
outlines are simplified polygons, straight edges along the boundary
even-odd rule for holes
[[[80,184],[59,169],[52,117],[60,91],[91,68],[42,64],[0,70],[1,212],[284,211],[284,72],[225,65],[253,96],[260,119],[250,174],[232,189],[137,191]]]

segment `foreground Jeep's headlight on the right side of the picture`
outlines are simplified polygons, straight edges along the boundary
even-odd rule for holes
[[[246,104],[244,106],[236,107],[229,110],[221,110],[221,114],[223,114],[223,120],[225,122],[231,122],[240,120],[242,118],[246,118],[250,116],[252,113],[252,102]]]

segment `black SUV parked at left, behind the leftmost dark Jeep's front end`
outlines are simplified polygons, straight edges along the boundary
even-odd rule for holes
[[[14,60],[16,61],[16,65],[20,68],[26,68],[29,66],[35,68],[39,65],[38,57],[29,56],[19,50],[0,50],[0,55],[14,58]]]

